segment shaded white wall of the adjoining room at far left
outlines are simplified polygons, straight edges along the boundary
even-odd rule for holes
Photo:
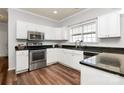
[[[0,23],[0,57],[8,56],[8,24]]]

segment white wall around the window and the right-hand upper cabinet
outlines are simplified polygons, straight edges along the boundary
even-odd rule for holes
[[[117,11],[120,9],[90,9],[87,12],[81,12],[78,13],[75,16],[72,16],[66,20],[64,20],[63,22],[61,22],[59,25],[60,26],[68,26],[68,25],[72,25],[72,24],[76,24],[88,19],[92,19],[95,18],[97,16],[103,15],[105,13],[109,13],[109,12],[113,12],[113,11]],[[69,44],[69,45],[73,45],[73,43],[63,43],[63,44]],[[123,47],[124,48],[124,15],[121,15],[121,38],[109,38],[109,39],[98,39],[98,43],[87,43],[86,45],[90,45],[90,46],[105,46],[105,47]]]

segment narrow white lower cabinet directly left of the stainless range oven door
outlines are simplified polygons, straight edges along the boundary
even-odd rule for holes
[[[28,70],[28,50],[16,51],[16,73]]]

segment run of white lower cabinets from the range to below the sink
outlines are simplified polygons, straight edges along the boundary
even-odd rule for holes
[[[80,70],[79,61],[83,60],[83,51],[51,48],[47,49],[47,64],[55,62]]]

